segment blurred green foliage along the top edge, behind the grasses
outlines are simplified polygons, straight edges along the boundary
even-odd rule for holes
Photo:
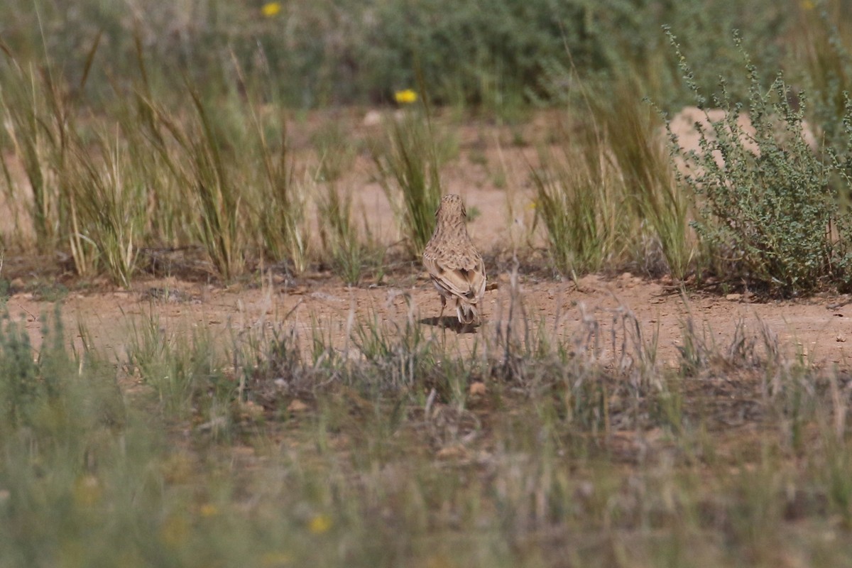
[[[88,89],[109,93],[136,70],[141,44],[152,80],[168,88],[187,75],[207,89],[233,89],[234,66],[268,77],[268,96],[290,106],[378,103],[420,75],[438,102],[500,108],[564,95],[567,76],[642,77],[646,94],[667,103],[678,72],[660,26],[686,38],[683,48],[708,84],[734,65],[733,29],[747,29],[758,65],[779,66],[798,10],[768,0],[741,3],[659,0],[320,0],[280,3],[160,3],[155,0],[4,3],[0,37],[18,58],[55,60],[76,83],[102,33],[105,73]]]

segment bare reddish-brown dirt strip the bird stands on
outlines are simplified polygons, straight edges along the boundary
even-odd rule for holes
[[[72,293],[63,302],[62,314],[66,332],[76,337],[78,346],[78,329],[82,327],[93,346],[115,360],[126,358],[125,348],[135,330],[152,322],[169,333],[203,328],[214,341],[226,342],[245,330],[295,325],[306,349],[314,333],[345,349],[351,347],[347,339],[353,335],[354,326],[377,322],[394,330],[394,325],[404,328],[406,322],[413,321],[423,326],[427,337],[458,346],[459,353],[469,353],[475,346],[481,352],[483,342],[487,345],[492,341],[498,324],[508,318],[509,278],[497,275],[494,279],[498,280],[497,289],[486,292],[486,323],[475,333],[457,334],[432,324],[440,304],[423,275],[406,286],[375,288],[347,288],[327,281],[296,288],[273,284],[224,290],[152,280],[129,292]],[[678,363],[677,347],[682,345],[683,326],[689,318],[708,346],[715,344],[722,353],[740,339],[738,326],[758,343],[765,326],[788,354],[803,353],[817,365],[849,368],[852,362],[852,341],[846,341],[852,336],[852,304],[835,307],[837,297],[750,303],[742,296],[727,299],[693,294],[684,301],[663,284],[630,274],[613,279],[589,276],[579,281],[579,287],[571,282],[521,278],[519,297],[527,321],[544,330],[550,341],[593,343],[588,332],[599,326],[596,341],[603,359],[613,357],[613,328],[617,331],[614,351],[619,353],[623,324],[630,324],[627,314],[631,313],[646,343],[657,346],[658,362],[666,365]],[[8,307],[12,318],[24,322],[37,347],[42,328],[39,316],[50,313],[52,304],[36,301],[30,294],[18,294],[9,299]],[[520,313],[517,308],[515,313]]]

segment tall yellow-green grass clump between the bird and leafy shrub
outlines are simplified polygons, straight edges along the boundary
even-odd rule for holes
[[[651,106],[621,83],[613,100],[589,101],[586,118],[533,170],[536,217],[556,269],[576,276],[633,264],[682,279],[695,242],[691,198],[676,186]]]

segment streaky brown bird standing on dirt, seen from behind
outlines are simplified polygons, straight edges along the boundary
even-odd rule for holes
[[[423,266],[440,294],[440,323],[446,301],[456,302],[461,324],[479,324],[482,296],[485,295],[485,264],[470,242],[465,226],[468,212],[462,198],[446,195],[435,212],[435,232],[423,251]]]

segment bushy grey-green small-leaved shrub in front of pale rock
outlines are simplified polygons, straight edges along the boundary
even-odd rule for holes
[[[704,103],[692,69],[671,40],[690,89]],[[684,189],[701,204],[694,227],[717,269],[732,280],[783,294],[842,280],[848,243],[838,237],[848,221],[829,183],[832,165],[820,161],[803,135],[806,99],[802,95],[801,108],[795,108],[781,75],[764,92],[757,67],[740,49],[750,82],[748,104],[734,103],[722,81],[715,102],[724,118],[696,123],[699,150],[680,152]]]

